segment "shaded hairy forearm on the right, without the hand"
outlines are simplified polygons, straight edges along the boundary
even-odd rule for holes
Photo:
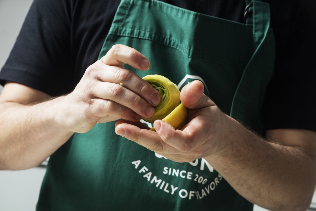
[[[306,210],[315,187],[313,160],[295,146],[268,142],[228,122],[229,147],[205,159],[250,202],[271,210]]]

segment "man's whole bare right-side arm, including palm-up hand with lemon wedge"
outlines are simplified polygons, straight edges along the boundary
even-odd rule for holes
[[[264,208],[306,210],[316,183],[316,133],[277,129],[264,140],[202,93],[197,81],[181,90],[189,121],[182,130],[157,120],[156,133],[119,120],[115,131],[173,161],[204,158],[240,195]]]

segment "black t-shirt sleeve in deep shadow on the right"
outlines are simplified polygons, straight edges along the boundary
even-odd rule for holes
[[[266,93],[266,130],[316,131],[315,11],[316,1],[308,1],[298,16],[289,17],[290,29],[279,38],[286,41],[284,47],[279,47],[281,52],[277,54],[275,74]]]

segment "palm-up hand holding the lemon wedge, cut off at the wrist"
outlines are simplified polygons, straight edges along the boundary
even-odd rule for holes
[[[188,124],[182,130],[156,120],[156,133],[144,129],[139,123],[119,120],[115,131],[176,162],[192,162],[221,152],[224,145],[219,140],[223,140],[221,136],[225,135],[222,133],[225,128],[220,127],[226,125],[226,115],[203,91],[204,85],[200,81],[193,81],[181,90],[181,102],[188,108]]]

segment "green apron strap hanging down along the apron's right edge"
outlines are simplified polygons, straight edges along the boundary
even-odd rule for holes
[[[269,4],[252,1],[252,34],[254,53],[247,64],[234,95],[230,116],[251,126],[257,133],[263,133],[262,104],[266,87],[273,75],[275,56],[274,36],[269,30]],[[269,33],[270,32],[270,33]],[[258,60],[263,62],[258,69]],[[261,72],[261,73],[260,73]],[[258,83],[260,81],[260,83]],[[216,101],[215,101],[216,102]]]

